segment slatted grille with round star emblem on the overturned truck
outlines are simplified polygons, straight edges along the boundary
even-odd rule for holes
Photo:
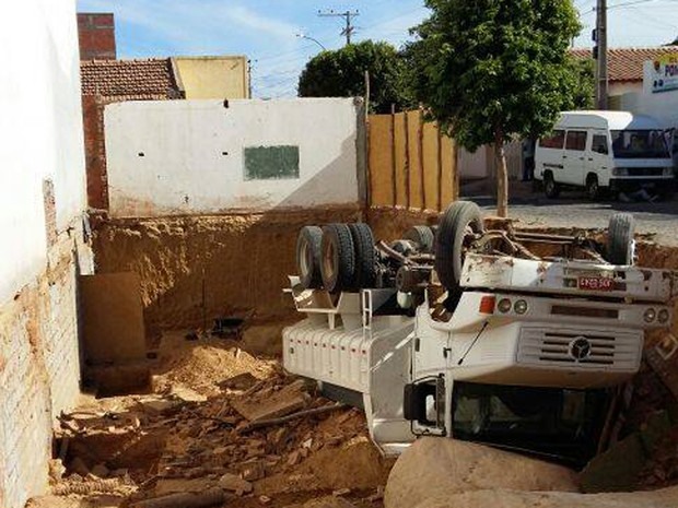
[[[521,333],[517,361],[569,369],[635,370],[640,365],[642,342],[640,332],[525,328]]]

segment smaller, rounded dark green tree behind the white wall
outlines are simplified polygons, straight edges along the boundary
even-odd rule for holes
[[[391,105],[411,105],[405,82],[405,61],[388,43],[365,40],[314,57],[299,80],[300,97],[355,97],[365,95],[370,71],[370,109],[389,113]]]

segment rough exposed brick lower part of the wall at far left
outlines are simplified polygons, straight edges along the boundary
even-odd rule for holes
[[[79,273],[92,272],[82,227],[59,235],[47,269],[0,306],[0,506],[47,487],[52,426],[80,393]]]

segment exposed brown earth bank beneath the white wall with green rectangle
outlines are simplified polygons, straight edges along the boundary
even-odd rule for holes
[[[358,206],[256,214],[105,220],[95,226],[98,273],[133,271],[151,329],[211,327],[225,316],[290,315],[282,293],[295,270],[299,231],[353,222]]]

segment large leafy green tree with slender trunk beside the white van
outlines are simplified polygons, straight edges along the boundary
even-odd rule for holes
[[[571,0],[425,0],[431,16],[407,48],[417,98],[469,151],[494,144],[498,214],[507,215],[504,143],[552,129],[575,106]]]

